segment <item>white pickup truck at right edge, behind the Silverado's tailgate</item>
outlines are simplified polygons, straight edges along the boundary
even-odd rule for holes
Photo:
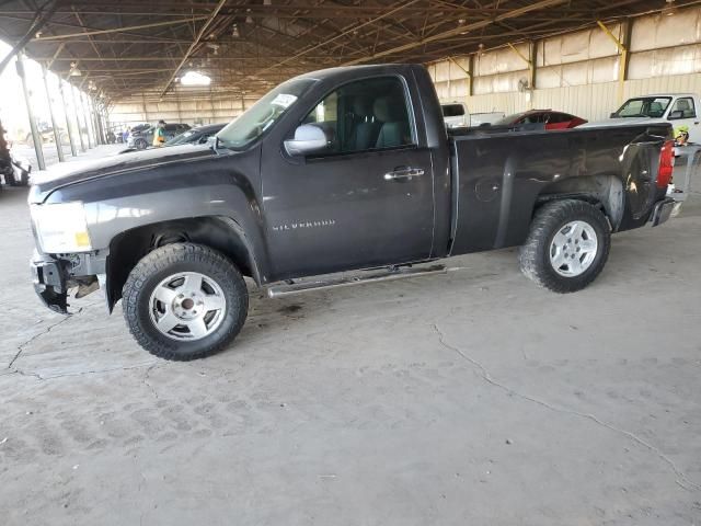
[[[617,124],[669,123],[675,129],[689,128],[689,141],[701,142],[701,101],[696,93],[659,93],[629,99],[610,118],[579,127],[616,126]]]

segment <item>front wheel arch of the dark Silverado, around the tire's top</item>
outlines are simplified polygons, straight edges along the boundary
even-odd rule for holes
[[[110,311],[136,264],[154,249],[176,242],[203,244],[229,258],[244,276],[261,285],[260,262],[243,228],[226,216],[200,216],[152,222],[115,236],[110,242],[105,293]]]

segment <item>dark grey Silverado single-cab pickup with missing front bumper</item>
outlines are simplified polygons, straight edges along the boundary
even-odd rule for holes
[[[611,232],[670,215],[667,124],[474,132],[446,130],[417,65],[294,78],[208,146],[35,184],[37,294],[67,312],[69,290],[103,287],[142,347],[193,359],[241,330],[243,276],[277,296],[518,245],[528,277],[570,293],[601,272]]]

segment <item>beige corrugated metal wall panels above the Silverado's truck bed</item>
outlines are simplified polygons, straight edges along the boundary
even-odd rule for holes
[[[659,92],[701,93],[701,8],[673,12],[631,20],[624,99]],[[621,37],[621,24],[608,27]],[[535,89],[519,91],[519,80],[528,80],[528,66],[514,50],[504,48],[475,55],[471,96],[468,57],[429,65],[438,96],[467,102],[473,113],[555,108],[589,121],[606,118],[620,106],[620,55],[599,27],[535,45]],[[528,45],[517,48],[528,57]]]

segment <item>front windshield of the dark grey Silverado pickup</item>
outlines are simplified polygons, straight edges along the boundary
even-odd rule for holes
[[[267,132],[314,82],[313,79],[292,79],[281,83],[226,125],[217,137],[227,148],[244,149]]]

